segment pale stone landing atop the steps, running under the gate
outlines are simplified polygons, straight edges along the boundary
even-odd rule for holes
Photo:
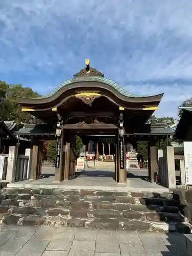
[[[77,178],[69,181],[54,182],[54,177],[39,180],[25,180],[10,183],[8,187],[31,187],[31,188],[60,188],[60,189],[102,189],[102,190],[123,190],[123,191],[148,191],[168,192],[168,188],[156,183],[150,183],[146,179],[139,178],[133,174],[133,178],[127,178],[126,184],[118,184],[114,179],[114,172],[111,170],[86,170],[81,172]],[[137,178],[135,178],[137,177]]]

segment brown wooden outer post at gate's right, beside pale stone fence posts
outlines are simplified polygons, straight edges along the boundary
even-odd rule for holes
[[[152,183],[155,182],[155,173],[158,172],[157,147],[155,146],[155,143],[155,141],[148,142],[148,179]]]

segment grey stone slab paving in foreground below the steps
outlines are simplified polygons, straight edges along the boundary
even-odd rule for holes
[[[7,227],[0,256],[187,256],[183,234],[66,227]]]

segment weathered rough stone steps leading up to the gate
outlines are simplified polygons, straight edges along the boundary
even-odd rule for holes
[[[190,233],[172,193],[3,188],[6,225],[48,225]]]

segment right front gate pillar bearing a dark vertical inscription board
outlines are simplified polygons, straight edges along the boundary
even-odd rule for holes
[[[119,183],[126,183],[126,164],[125,164],[125,144],[124,144],[124,127],[123,127],[123,113],[119,116],[119,133],[118,133],[118,151],[119,151]]]

